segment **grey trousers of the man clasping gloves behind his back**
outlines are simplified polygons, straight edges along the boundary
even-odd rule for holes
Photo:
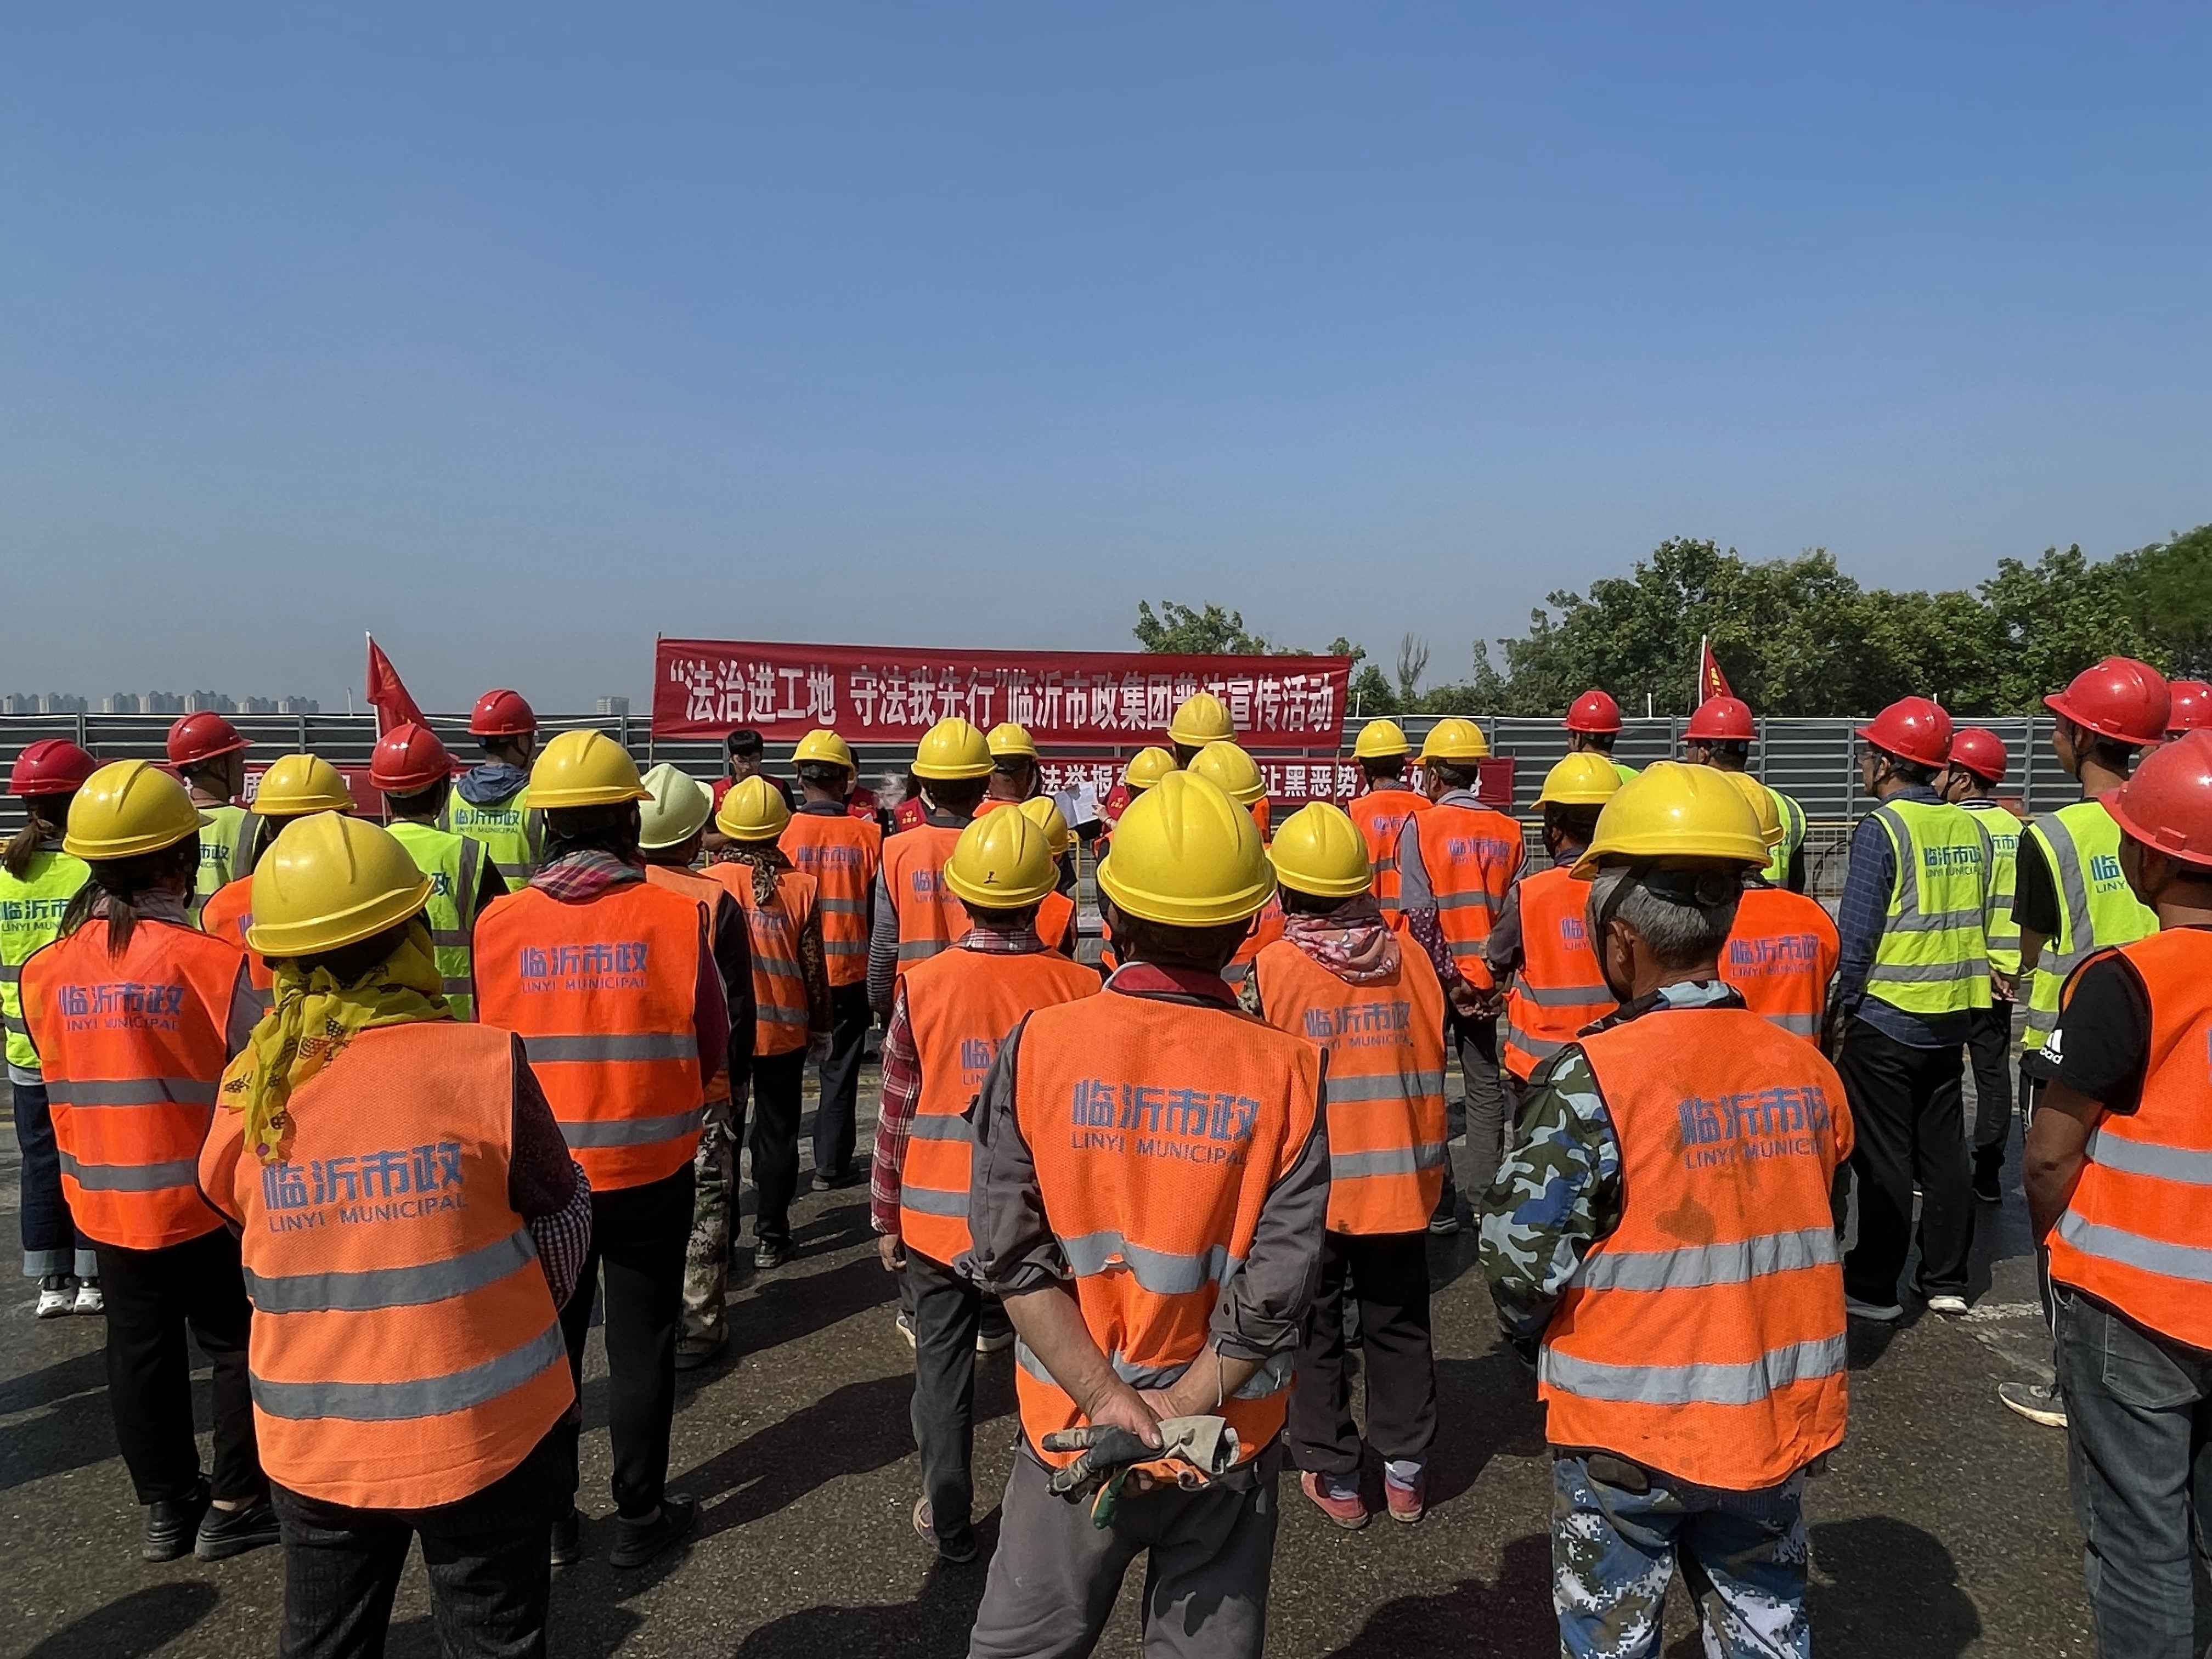
[[[991,1582],[969,1659],[1082,1659],[1097,1648],[1139,1553],[1146,1659],[1259,1659],[1267,1644],[1281,1442],[1256,1458],[1256,1486],[1121,1491],[1113,1526],[1091,1502],[1044,1491],[1046,1469],[1015,1451]]]

